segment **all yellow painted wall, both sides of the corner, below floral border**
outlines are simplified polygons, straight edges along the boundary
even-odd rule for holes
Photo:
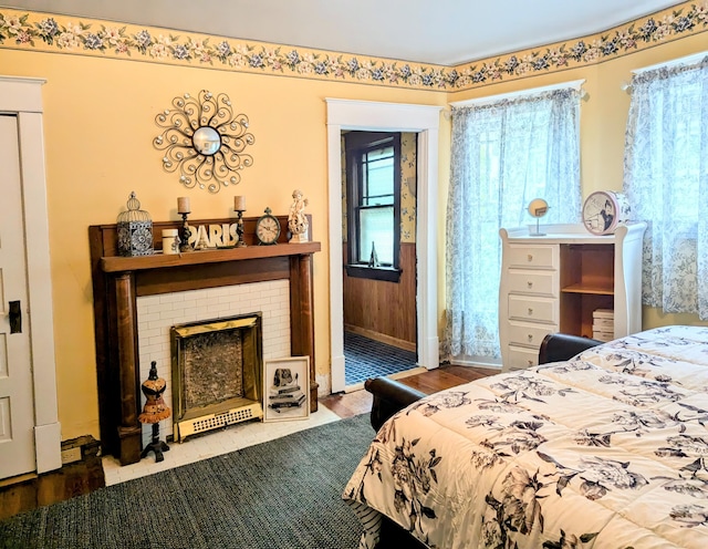
[[[100,27],[94,24],[94,29]],[[302,189],[310,200],[313,238],[322,242],[323,250],[314,260],[314,320],[315,369],[317,374],[325,375],[330,372],[327,224],[341,220],[327,216],[324,97],[446,105],[448,101],[585,79],[590,97],[582,106],[581,137],[586,195],[598,188],[621,188],[629,99],[620,86],[629,80],[631,70],[706,49],[706,33],[701,31],[600,64],[456,92],[449,86],[376,84],[356,77],[229,71],[218,63],[160,64],[145,62],[150,60],[138,54],[116,59],[111,52],[50,48],[39,39],[37,46],[29,42],[17,45],[15,34],[6,32],[10,28],[8,24],[3,28],[0,20],[0,37],[3,32],[6,37],[0,44],[0,72],[46,79],[43,86],[46,189],[59,416],[64,439],[84,434],[100,436],[87,227],[115,222],[132,190],[143,209],[159,221],[177,219],[177,196],[190,197],[194,218],[231,216],[236,194],[247,196],[247,216],[260,215],[267,206],[284,215],[292,190]],[[256,136],[250,148],[253,166],[242,172],[237,188],[217,195],[181,187],[175,174],[163,170],[162,156],[152,145],[159,133],[155,115],[168,108],[175,96],[185,92],[196,95],[202,89],[227,93],[235,112],[249,116],[250,131]],[[450,123],[445,116],[440,123],[441,318]],[[668,320],[647,317],[645,325]]]

